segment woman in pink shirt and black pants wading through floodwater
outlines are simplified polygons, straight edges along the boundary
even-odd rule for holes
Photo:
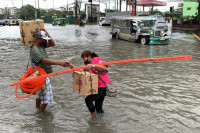
[[[81,58],[86,65],[87,71],[97,74],[106,84],[111,83],[108,77],[107,66],[97,65],[104,62],[97,54],[86,50],[81,54]],[[98,94],[89,95],[85,98],[86,106],[92,116],[95,116],[96,113],[104,113],[102,106],[106,96],[106,85],[100,78],[98,79]],[[93,102],[95,102],[95,105]]]

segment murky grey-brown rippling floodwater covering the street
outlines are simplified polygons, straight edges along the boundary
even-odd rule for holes
[[[20,42],[19,27],[0,27],[0,132],[34,133],[199,133],[200,42],[190,33],[174,31],[168,45],[113,40],[110,28],[98,25],[45,25],[56,42],[47,49],[54,60],[83,66],[83,50],[107,61],[191,55],[191,60],[137,62],[109,66],[116,98],[104,102],[104,115],[91,117],[84,97],[72,90],[72,73],[51,77],[54,103],[46,112],[35,108],[35,96],[15,97],[26,69],[29,47]],[[54,71],[66,68],[53,66]],[[23,94],[18,90],[18,95]]]

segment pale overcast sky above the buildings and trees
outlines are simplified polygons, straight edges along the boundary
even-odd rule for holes
[[[23,5],[26,4],[30,4],[32,6],[36,8],[38,8],[38,1],[39,1],[39,6],[40,8],[60,8],[63,6],[66,6],[67,3],[68,4],[72,4],[75,0],[0,0],[0,8],[4,8],[4,7],[17,7],[20,8],[22,6],[22,2]],[[100,10],[101,12],[104,12],[104,10],[106,9],[106,4],[107,4],[107,8],[110,7],[110,9],[115,9],[114,5],[115,5],[115,0],[100,0],[101,4],[100,4]],[[118,0],[119,1],[119,0]],[[162,6],[162,7],[154,7],[154,9],[158,9],[160,11],[169,11],[171,6],[174,6],[174,8],[176,9],[178,6],[178,3],[183,2],[183,0],[159,0],[162,2],[166,2],[167,6]],[[176,2],[174,2],[176,1]],[[83,3],[87,3],[88,0],[82,0]],[[93,0],[93,3],[98,4],[99,0]],[[106,3],[106,4],[105,4]],[[72,6],[72,5],[71,5]],[[129,8],[128,8],[129,9]],[[138,6],[137,10],[142,11],[142,7]],[[84,10],[84,4],[81,5],[81,10]],[[126,10],[126,4],[125,2],[122,2],[122,11]],[[145,7],[145,11],[148,11],[149,8]]]

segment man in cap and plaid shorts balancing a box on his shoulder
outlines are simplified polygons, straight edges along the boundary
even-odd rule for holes
[[[39,31],[35,37],[37,40],[30,49],[32,63],[43,68],[47,74],[53,72],[51,65],[73,68],[73,65],[69,61],[55,61],[48,58],[45,48],[55,46],[55,42],[45,29]],[[46,88],[36,96],[36,108],[40,108],[40,112],[44,112],[48,103],[53,102],[53,93],[49,77],[46,78],[45,83]]]

